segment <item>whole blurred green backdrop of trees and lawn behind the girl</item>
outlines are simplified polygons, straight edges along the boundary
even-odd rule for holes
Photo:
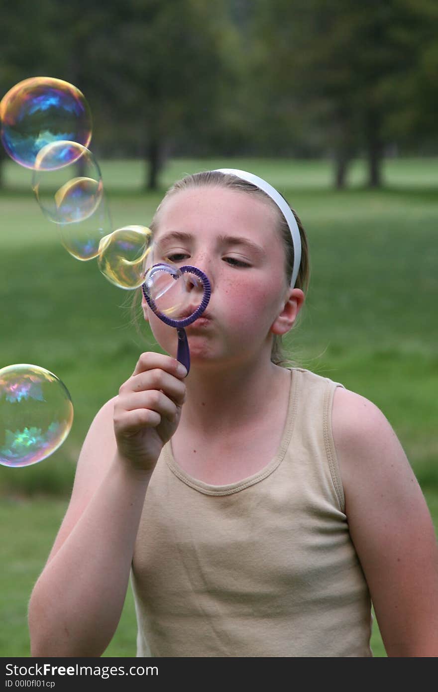
[[[291,357],[383,410],[435,527],[437,15],[426,0],[19,0],[0,26],[0,96],[34,75],[86,95],[113,228],[147,226],[168,185],[214,167],[286,196],[311,253]],[[140,352],[158,348],[133,323],[132,293],[66,252],[30,180],[0,147],[0,367],[55,372],[75,419],[49,459],[0,466],[3,657],[30,655],[28,597],[86,430]],[[135,655],[135,640],[129,592],[105,655]],[[372,647],[385,656],[376,625]]]

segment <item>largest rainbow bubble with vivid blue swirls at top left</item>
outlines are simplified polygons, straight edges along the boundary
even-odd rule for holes
[[[12,86],[0,102],[0,122],[3,147],[26,168],[35,167],[38,152],[54,141],[88,147],[91,140],[91,111],[84,95],[73,84],[51,77],[33,77]]]

